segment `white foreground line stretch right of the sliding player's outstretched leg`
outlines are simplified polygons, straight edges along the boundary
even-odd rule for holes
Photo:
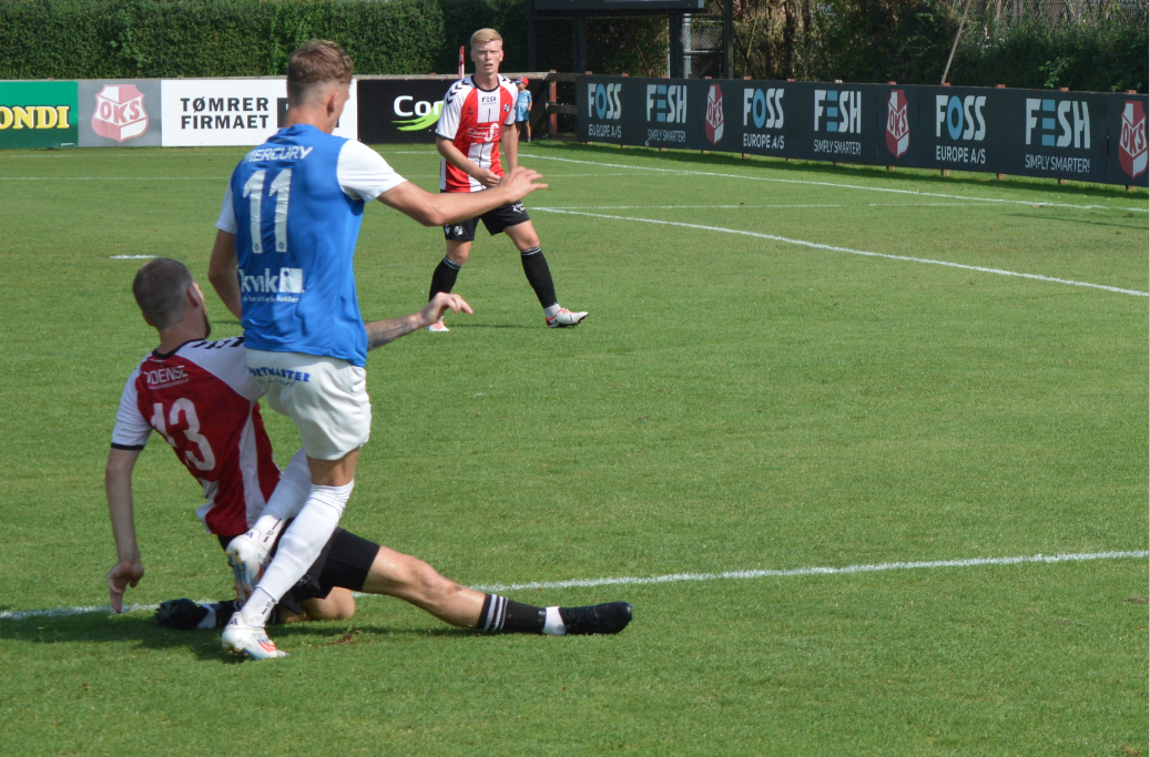
[[[727,571],[724,573],[669,573],[667,576],[588,578],[569,581],[534,581],[531,584],[492,584],[474,587],[480,592],[523,592],[527,589],[570,589],[591,586],[634,586],[642,584],[678,584],[681,581],[718,581],[733,578],[788,578],[791,576],[834,576],[841,573],[875,573],[926,567],[975,567],[981,565],[1021,565],[1026,563],[1081,563],[1091,559],[1132,559],[1150,556],[1147,550],[1080,553],[1071,555],[1033,555],[1029,557],[973,557],[938,559],[925,563],[877,563],[845,567],[795,567],[791,570]]]

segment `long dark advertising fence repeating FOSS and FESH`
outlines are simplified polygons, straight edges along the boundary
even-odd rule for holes
[[[1147,186],[1147,95],[578,77],[584,141]]]

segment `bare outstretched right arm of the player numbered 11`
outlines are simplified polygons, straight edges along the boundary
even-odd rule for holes
[[[411,181],[404,181],[376,199],[424,226],[446,226],[482,216],[484,213],[505,204],[519,202],[536,190],[546,190],[546,184],[538,183],[538,179],[542,178],[542,173],[520,167],[504,176],[498,185],[483,192],[432,194]],[[232,255],[235,255],[235,250],[232,250]],[[215,260],[215,255],[213,255],[213,260]],[[232,280],[235,281],[235,276],[232,276]],[[215,279],[212,279],[212,283],[215,284]],[[236,288],[238,299],[238,284]]]

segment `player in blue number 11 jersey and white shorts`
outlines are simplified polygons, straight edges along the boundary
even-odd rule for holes
[[[546,187],[520,168],[486,192],[424,192],[366,145],[332,136],[351,79],[352,61],[335,43],[312,40],[292,54],[286,125],[232,172],[208,270],[243,323],[248,371],[268,404],[299,428],[312,477],[274,559],[256,530],[228,548],[251,582],[262,578],[222,642],[255,659],[283,656],[264,631],[268,615],[338,525],[370,434],[367,333],[352,270],[365,204],[379,200],[443,226]]]

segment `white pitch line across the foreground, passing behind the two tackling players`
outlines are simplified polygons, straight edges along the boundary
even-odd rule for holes
[[[793,567],[790,570],[727,571],[723,573],[668,573],[666,576],[622,578],[577,578],[567,581],[532,581],[530,584],[488,584],[471,588],[480,592],[526,592],[528,589],[567,589],[593,586],[635,586],[643,584],[680,584],[683,581],[720,581],[735,578],[790,578],[793,576],[836,576],[850,573],[876,573],[881,571],[906,571],[929,567],[977,567],[982,565],[1022,565],[1029,563],[1083,563],[1095,559],[1144,559],[1150,551],[1076,553],[1065,555],[1029,555],[1023,557],[972,557],[968,559],[938,559],[920,563],[876,563],[873,565],[846,565],[844,567]],[[375,596],[356,592],[355,596]],[[208,600],[200,600],[207,602]],[[124,612],[155,610],[155,604],[125,604]],[[28,618],[61,618],[91,612],[112,612],[110,604],[54,608],[49,610],[5,610],[0,620],[26,620]]]

